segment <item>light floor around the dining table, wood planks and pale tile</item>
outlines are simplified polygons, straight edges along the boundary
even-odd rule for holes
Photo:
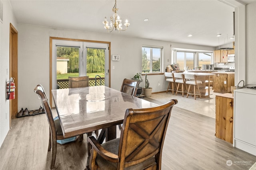
[[[172,98],[176,98],[178,104],[172,109],[164,141],[162,170],[249,170],[253,166],[256,156],[216,138],[215,119],[210,115],[206,116],[208,113],[196,113],[196,110],[212,110],[213,106],[196,105],[200,99],[192,104],[195,102],[192,97],[182,98],[181,95],[175,96],[170,92],[153,94],[144,99],[162,104]],[[211,103],[209,100],[214,101],[215,107],[215,97],[201,102],[207,105]],[[215,110],[212,112],[215,114]],[[48,121],[44,114],[13,119],[12,129],[0,148],[0,170],[50,169],[48,135]],[[234,163],[228,166],[228,160]],[[82,142],[77,140],[64,145],[58,144],[55,169],[83,170],[86,162],[86,135]]]

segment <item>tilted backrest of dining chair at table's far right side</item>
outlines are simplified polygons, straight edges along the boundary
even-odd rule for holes
[[[138,84],[139,83],[136,80],[130,80],[125,78],[120,91],[126,94],[130,94],[132,96],[136,96]]]

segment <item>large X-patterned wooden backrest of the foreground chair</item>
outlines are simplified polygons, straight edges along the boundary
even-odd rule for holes
[[[161,169],[162,148],[176,99],[151,108],[126,109],[118,156],[120,167],[132,166],[155,156]],[[119,166],[119,165],[118,165]]]

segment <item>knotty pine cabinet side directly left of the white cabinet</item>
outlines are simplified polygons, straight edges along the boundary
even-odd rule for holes
[[[233,143],[234,98],[231,93],[216,96],[216,137]]]

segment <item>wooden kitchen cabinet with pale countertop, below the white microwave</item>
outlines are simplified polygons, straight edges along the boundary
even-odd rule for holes
[[[228,93],[231,92],[231,86],[235,84],[234,72],[212,72],[213,76],[213,88],[216,93]]]

